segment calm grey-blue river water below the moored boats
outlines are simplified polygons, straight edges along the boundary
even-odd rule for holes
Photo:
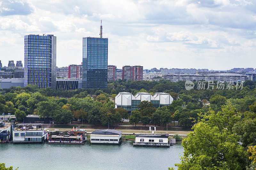
[[[0,163],[18,170],[165,169],[180,162],[181,143],[170,148],[121,145],[0,144]],[[175,168],[177,169],[177,168]]]

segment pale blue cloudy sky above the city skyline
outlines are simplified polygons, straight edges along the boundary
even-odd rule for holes
[[[54,34],[57,66],[80,64],[101,19],[117,68],[256,68],[256,0],[0,0],[0,60],[24,64],[24,35]]]

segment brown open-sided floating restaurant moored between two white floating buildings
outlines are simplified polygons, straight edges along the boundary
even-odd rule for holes
[[[77,131],[48,131],[49,136],[47,136],[48,144],[84,144],[87,135],[84,130]]]

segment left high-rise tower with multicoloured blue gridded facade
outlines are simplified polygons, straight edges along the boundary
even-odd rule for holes
[[[24,86],[56,86],[56,36],[25,35]]]

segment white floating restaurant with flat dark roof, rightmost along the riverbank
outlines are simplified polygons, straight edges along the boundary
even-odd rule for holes
[[[140,134],[135,136],[133,146],[158,146],[170,147],[168,134]]]

